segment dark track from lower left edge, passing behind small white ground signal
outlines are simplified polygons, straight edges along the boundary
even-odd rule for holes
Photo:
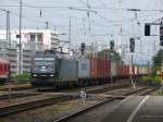
[[[98,94],[98,93],[104,93],[104,91],[109,91],[112,89],[118,89],[118,88],[125,88],[128,87],[128,84],[121,84],[121,85],[112,85],[111,87],[100,87],[97,89],[90,89],[87,93],[88,94]],[[46,93],[47,94],[47,93]],[[48,95],[48,94],[47,94]],[[23,95],[16,95],[16,97],[25,97]],[[0,99],[5,99],[7,96],[2,96]],[[13,105],[13,106],[9,106],[9,107],[3,107],[0,108],[0,117],[4,117],[4,115],[9,115],[9,114],[13,114],[13,113],[18,113],[22,111],[27,111],[27,110],[32,110],[32,109],[36,109],[39,107],[43,107],[43,106],[50,106],[53,103],[58,103],[58,102],[63,102],[66,100],[73,100],[73,99],[77,99],[79,98],[79,95],[74,96],[74,95],[70,95],[70,96],[59,96],[59,97],[50,97],[47,99],[42,99],[42,100],[36,100],[36,101],[32,101],[32,102],[25,102],[25,103],[21,103],[21,105]]]

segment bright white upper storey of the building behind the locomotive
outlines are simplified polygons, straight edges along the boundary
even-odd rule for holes
[[[11,42],[20,41],[20,30],[12,29]],[[7,30],[0,29],[0,40],[5,40]],[[55,48],[59,44],[58,32],[53,29],[22,29],[22,45],[24,48],[50,49]]]

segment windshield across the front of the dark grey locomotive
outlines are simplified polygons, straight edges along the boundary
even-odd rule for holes
[[[53,65],[54,58],[35,58],[35,65]]]

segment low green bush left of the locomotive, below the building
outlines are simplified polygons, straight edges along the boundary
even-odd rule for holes
[[[11,75],[11,81],[18,84],[27,83],[29,82],[29,80],[30,80],[29,73],[23,73],[21,75],[16,75],[16,74]]]

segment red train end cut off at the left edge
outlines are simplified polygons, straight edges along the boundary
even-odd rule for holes
[[[10,63],[8,60],[0,59],[0,84],[5,83],[10,77]]]

